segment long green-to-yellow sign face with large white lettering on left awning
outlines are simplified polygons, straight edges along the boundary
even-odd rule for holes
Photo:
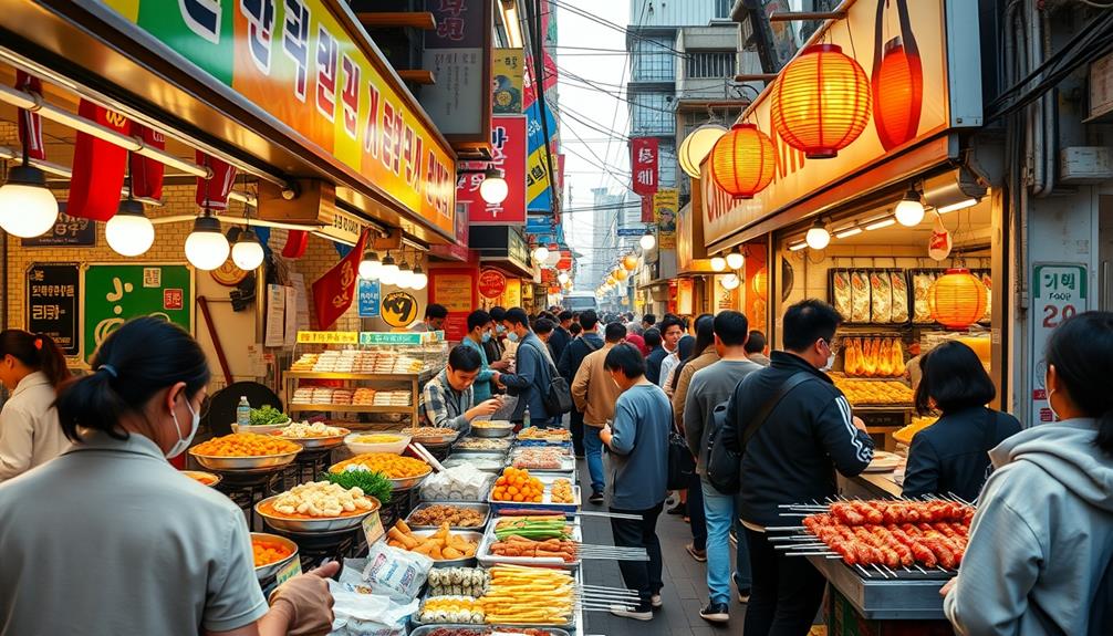
[[[401,207],[453,233],[452,151],[325,0],[106,2]]]

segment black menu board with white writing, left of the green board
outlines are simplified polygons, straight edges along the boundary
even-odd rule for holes
[[[24,296],[27,330],[50,336],[63,355],[77,356],[81,350],[81,281],[77,264],[31,265]]]

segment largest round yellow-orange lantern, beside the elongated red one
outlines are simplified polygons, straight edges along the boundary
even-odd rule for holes
[[[786,143],[808,159],[830,159],[869,123],[869,79],[838,44],[812,44],[796,57],[774,86],[772,125]]]

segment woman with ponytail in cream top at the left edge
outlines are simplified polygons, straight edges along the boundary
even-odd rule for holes
[[[0,382],[10,394],[0,411],[0,483],[69,446],[55,410],[57,391],[69,378],[66,358],[49,336],[0,331]]]

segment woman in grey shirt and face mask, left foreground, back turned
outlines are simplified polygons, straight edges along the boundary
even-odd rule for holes
[[[58,418],[73,446],[0,484],[0,634],[326,634],[322,576],[263,597],[243,511],[166,461],[197,433],[209,368],[155,318],[125,324],[68,385]]]

